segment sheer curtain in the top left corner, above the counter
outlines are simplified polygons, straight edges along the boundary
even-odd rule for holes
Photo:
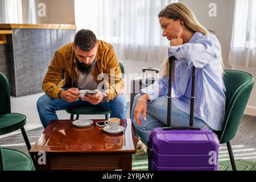
[[[0,23],[34,24],[34,0],[0,0]]]

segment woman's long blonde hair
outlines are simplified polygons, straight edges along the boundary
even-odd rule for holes
[[[191,10],[189,10],[183,3],[172,3],[166,6],[160,13],[158,14],[158,18],[165,17],[168,19],[183,21],[184,26],[188,28],[188,30],[192,32],[200,32],[203,35],[209,34],[208,30],[196,19],[195,14]],[[167,49],[168,50],[168,49]],[[168,51],[164,53],[164,63],[161,65],[161,76],[167,76],[169,72],[169,64],[168,64]],[[174,71],[175,68],[172,69],[172,81],[174,81]]]

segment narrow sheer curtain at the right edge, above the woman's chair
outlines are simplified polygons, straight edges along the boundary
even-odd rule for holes
[[[236,0],[229,64],[256,67],[256,1]]]

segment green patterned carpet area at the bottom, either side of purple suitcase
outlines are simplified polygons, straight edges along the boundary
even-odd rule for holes
[[[219,157],[218,171],[232,171],[229,158]],[[148,170],[147,154],[133,155],[133,170],[134,171],[147,171]],[[256,163],[236,159],[236,167],[238,171],[256,171]]]

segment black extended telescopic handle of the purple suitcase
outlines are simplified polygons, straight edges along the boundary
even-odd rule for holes
[[[190,107],[190,120],[189,127],[173,127],[171,128],[171,88],[172,88],[172,67],[176,57],[169,57],[169,80],[168,80],[168,107],[167,107],[167,127],[163,127],[163,130],[200,130],[199,127],[193,127],[194,121],[194,101],[195,101],[195,79],[196,79],[196,68],[192,67],[192,89],[191,89],[191,107]]]

